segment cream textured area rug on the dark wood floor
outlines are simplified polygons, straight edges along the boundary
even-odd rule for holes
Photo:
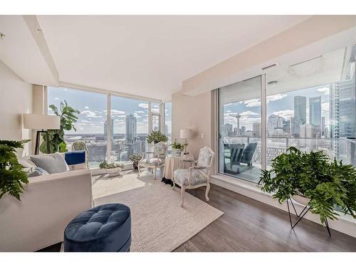
[[[120,189],[120,183],[127,191]],[[107,195],[103,197],[105,192]],[[137,252],[173,251],[224,214],[191,194],[184,194],[182,208],[180,189],[172,190],[168,184],[160,182],[160,179],[154,180],[148,173],[140,178],[137,174],[125,174],[102,179],[93,185],[93,195],[100,196],[94,197],[95,206],[106,203],[130,206],[130,250]]]

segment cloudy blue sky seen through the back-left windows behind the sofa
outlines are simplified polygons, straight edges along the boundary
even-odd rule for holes
[[[68,105],[73,108],[80,110],[78,122],[75,123],[77,133],[104,133],[107,109],[106,95],[67,88],[48,88],[48,104],[54,104],[59,108],[63,100],[66,100]],[[114,118],[114,133],[125,133],[126,115],[129,114],[133,114],[137,118],[137,133],[148,132],[147,102],[115,96],[112,97],[111,107],[111,115]],[[152,105],[152,111],[153,109],[158,111],[159,105]],[[51,110],[48,110],[48,112],[51,112]],[[169,110],[166,112],[169,112]]]

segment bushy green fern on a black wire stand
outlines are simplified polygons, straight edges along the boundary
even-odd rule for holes
[[[335,205],[356,219],[356,169],[323,151],[302,152],[290,147],[273,159],[270,170],[262,170],[258,184],[281,203],[295,195],[310,199],[310,211],[327,219],[337,219]]]

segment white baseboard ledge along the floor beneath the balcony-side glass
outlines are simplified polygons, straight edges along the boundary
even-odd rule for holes
[[[240,179],[232,178],[222,174],[212,175],[210,182],[211,184],[216,184],[219,187],[223,187],[232,192],[243,194],[244,196],[250,197],[251,199],[256,199],[257,201],[261,201],[278,209],[282,209],[283,211],[288,211],[286,203],[279,204],[276,199],[273,199],[271,194],[266,194],[262,192],[257,184],[244,182]],[[299,204],[296,204],[295,207],[298,212],[303,209],[303,206]],[[316,214],[311,214],[310,212],[308,212],[308,214],[306,214],[304,218],[310,221],[314,221],[317,224],[321,224],[319,216]],[[336,231],[340,231],[344,234],[348,234],[349,236],[353,236],[356,238],[356,220],[353,219],[350,215],[340,214],[338,220],[329,220],[329,226],[331,229],[335,229]]]

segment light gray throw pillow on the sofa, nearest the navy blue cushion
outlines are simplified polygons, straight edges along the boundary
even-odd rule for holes
[[[66,160],[59,153],[31,156],[31,160],[35,162],[37,167],[45,169],[49,174],[67,172],[69,170]]]

